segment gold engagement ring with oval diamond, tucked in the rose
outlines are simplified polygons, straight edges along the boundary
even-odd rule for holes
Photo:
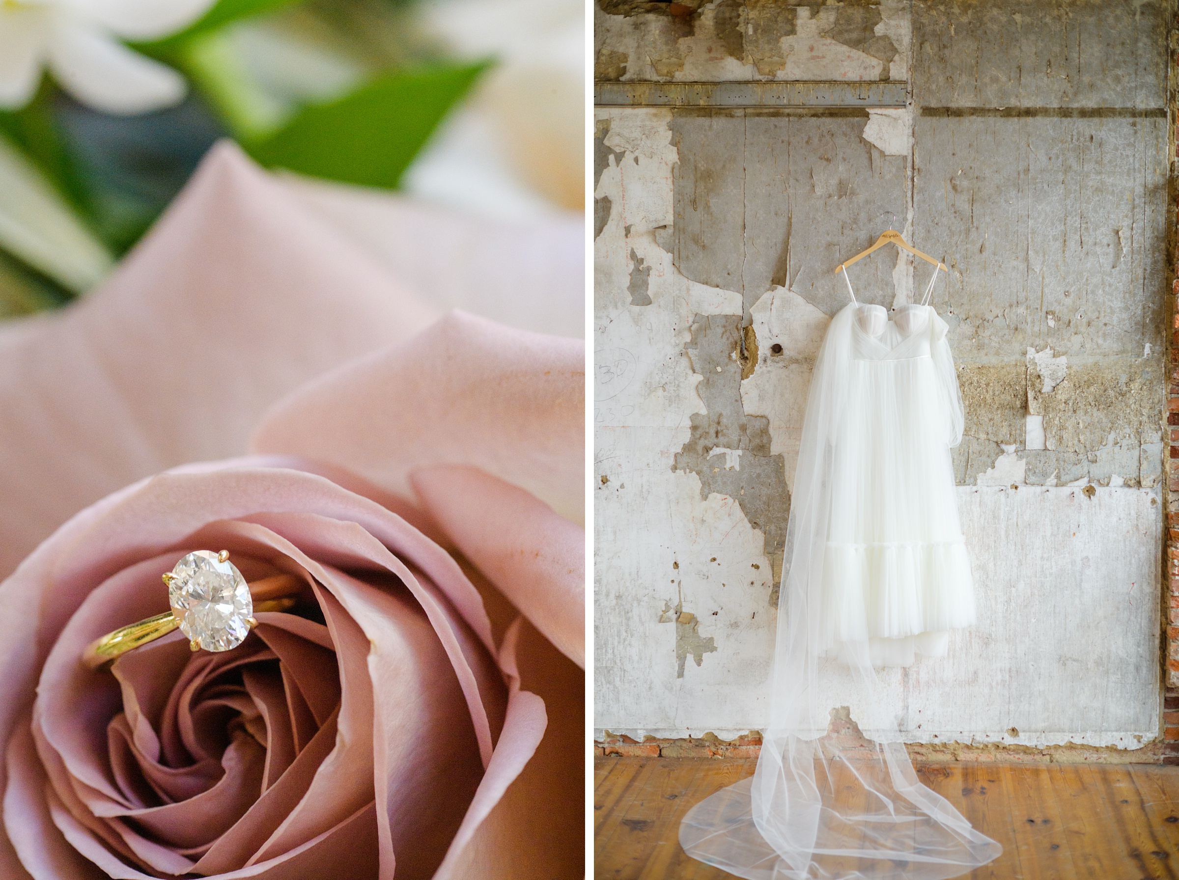
[[[97,669],[177,627],[195,651],[202,648],[230,650],[258,626],[255,611],[290,608],[302,585],[294,575],[275,575],[246,583],[237,565],[229,561],[229,550],[190,553],[164,575],[164,583],[172,610],[95,639],[83,651],[86,666]]]

